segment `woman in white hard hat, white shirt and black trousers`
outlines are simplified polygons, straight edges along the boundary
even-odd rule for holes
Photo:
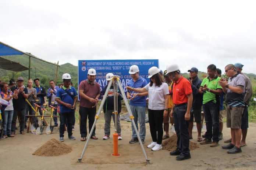
[[[152,151],[162,149],[163,117],[168,116],[169,89],[159,72],[157,67],[151,67],[148,71],[150,83],[143,88],[126,87],[138,93],[149,93],[149,127],[153,141],[147,148],[152,148]]]

